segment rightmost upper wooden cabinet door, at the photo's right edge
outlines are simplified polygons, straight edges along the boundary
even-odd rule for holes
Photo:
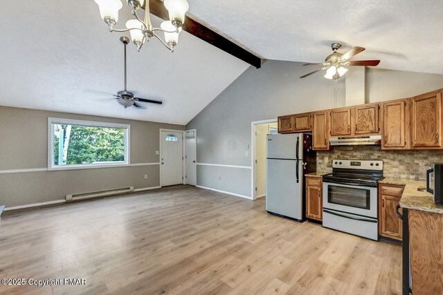
[[[442,147],[442,92],[412,98],[411,137],[413,148]]]

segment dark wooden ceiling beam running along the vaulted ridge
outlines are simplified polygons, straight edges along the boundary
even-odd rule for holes
[[[150,0],[150,10],[153,15],[156,17],[160,17],[161,19],[169,19],[168,10],[166,10],[163,1],[161,0]],[[226,37],[219,35],[217,32],[214,32],[210,28],[202,25],[198,21],[186,16],[185,23],[182,26],[183,30],[202,39],[209,44],[229,53],[237,57],[238,59],[242,59],[248,64],[255,66],[255,68],[260,68],[262,66],[263,60],[257,55],[250,53],[248,50],[238,46],[233,41],[230,41]]]

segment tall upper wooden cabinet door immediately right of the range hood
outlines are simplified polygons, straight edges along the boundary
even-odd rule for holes
[[[381,113],[381,149],[410,149],[410,99],[385,102]]]

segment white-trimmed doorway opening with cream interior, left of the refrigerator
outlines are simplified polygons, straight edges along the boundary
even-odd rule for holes
[[[251,122],[251,196],[266,196],[266,135],[278,133],[277,119]]]

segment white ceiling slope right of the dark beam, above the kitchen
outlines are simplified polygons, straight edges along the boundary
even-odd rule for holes
[[[334,41],[378,68],[443,74],[442,0],[188,0],[190,13],[266,59],[320,62]],[[315,67],[313,68],[315,69]]]

